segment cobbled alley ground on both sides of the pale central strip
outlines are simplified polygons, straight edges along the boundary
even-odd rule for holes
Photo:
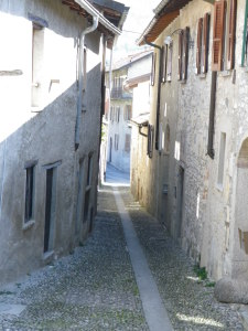
[[[133,201],[128,179],[118,186],[115,178],[119,174],[111,168],[111,183],[99,190],[98,215],[84,246],[0,289],[0,330],[149,330],[143,309],[149,289],[140,287],[132,268],[125,213],[174,330],[242,330],[240,306],[216,301],[212,282],[196,277],[190,258]],[[150,310],[158,313],[157,306]],[[163,329],[150,324],[150,330],[171,330],[170,321]]]

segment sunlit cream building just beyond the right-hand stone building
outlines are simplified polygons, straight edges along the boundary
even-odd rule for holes
[[[132,90],[131,135],[131,192],[145,205],[142,180],[147,177],[151,110],[151,68],[153,51],[144,51],[132,57],[125,88]]]

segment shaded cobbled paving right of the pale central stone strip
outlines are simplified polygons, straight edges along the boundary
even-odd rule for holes
[[[240,306],[219,303],[213,282],[196,277],[192,260],[162,225],[133,203],[128,190],[122,190],[122,199],[174,330],[244,330]]]

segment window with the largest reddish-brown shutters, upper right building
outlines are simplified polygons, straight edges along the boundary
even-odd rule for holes
[[[233,70],[235,64],[237,0],[215,2],[212,71]]]

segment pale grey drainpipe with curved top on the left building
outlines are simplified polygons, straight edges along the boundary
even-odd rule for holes
[[[78,63],[78,92],[77,92],[77,117],[76,117],[76,128],[75,128],[75,150],[79,147],[80,139],[80,122],[82,122],[82,105],[83,105],[83,78],[84,78],[84,45],[85,35],[94,32],[98,26],[98,17],[93,15],[93,25],[86,28],[80,33],[79,40],[79,63]]]

